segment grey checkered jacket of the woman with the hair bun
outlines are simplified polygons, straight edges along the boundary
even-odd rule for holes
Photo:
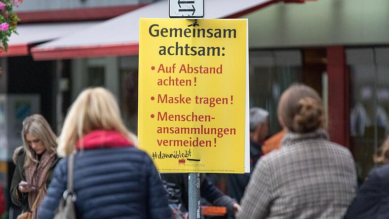
[[[342,218],[356,195],[351,153],[325,130],[287,133],[255,166],[237,218]]]

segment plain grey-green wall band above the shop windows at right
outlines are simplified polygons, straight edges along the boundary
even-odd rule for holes
[[[250,48],[389,44],[389,1],[277,3],[249,18]]]

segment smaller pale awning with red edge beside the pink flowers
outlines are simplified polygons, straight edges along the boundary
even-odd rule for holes
[[[101,21],[100,21],[101,22]],[[82,29],[96,25],[100,22],[66,22],[66,23],[41,23],[19,24],[18,34],[12,33],[8,42],[8,53],[2,52],[0,56],[25,56],[29,54],[29,48],[36,44],[51,41],[61,36],[78,32]]]

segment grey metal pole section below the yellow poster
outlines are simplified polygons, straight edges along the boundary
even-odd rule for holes
[[[189,219],[200,219],[200,173],[189,173]]]

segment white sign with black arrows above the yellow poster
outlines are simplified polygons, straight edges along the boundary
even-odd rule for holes
[[[169,0],[170,18],[204,18],[204,0]]]

